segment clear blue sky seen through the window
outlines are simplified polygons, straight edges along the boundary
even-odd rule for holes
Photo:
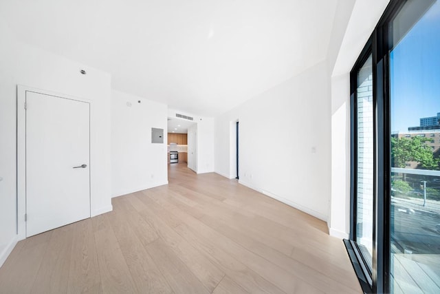
[[[440,0],[395,46],[391,58],[391,131],[407,132],[440,112]]]

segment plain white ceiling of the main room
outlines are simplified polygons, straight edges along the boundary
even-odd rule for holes
[[[327,56],[338,0],[1,0],[22,41],[216,116]]]

